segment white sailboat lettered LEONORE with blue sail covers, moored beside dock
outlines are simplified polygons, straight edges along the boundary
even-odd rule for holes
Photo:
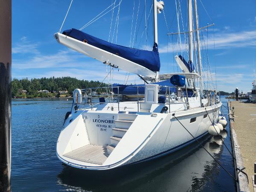
[[[216,90],[203,90],[196,0],[195,30],[192,0],[188,0],[189,61],[182,55],[175,56],[181,73],[159,73],[157,14],[162,12],[164,3],[153,0],[152,6],[152,51],[112,44],[78,29],[55,33],[58,43],[112,68],[137,74],[145,81],[140,85],[74,90],[72,110],[65,116],[56,146],[57,157],[63,163],[79,169],[114,169],[170,154],[209,135],[212,127],[219,133],[215,123],[222,103]],[[194,32],[198,69],[193,63]],[[97,94],[98,89],[109,93]],[[121,101],[122,95],[128,99]],[[129,100],[129,96],[133,99]]]

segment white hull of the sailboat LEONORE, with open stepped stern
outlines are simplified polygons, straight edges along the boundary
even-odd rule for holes
[[[106,105],[105,107],[107,107]],[[200,138],[208,133],[211,120],[218,119],[220,107],[221,103],[206,108],[179,111],[175,113],[175,116],[195,138]],[[205,109],[211,120],[206,116]],[[72,113],[64,124],[58,138],[57,156],[62,162],[76,168],[104,170],[151,160],[195,142],[195,139],[173,116],[175,109],[169,113],[160,113],[157,110],[160,109],[154,109],[154,113],[150,111],[135,114],[122,114],[118,111],[78,110],[76,113]],[[125,123],[131,121],[124,122],[124,120],[118,119],[122,119],[122,116],[130,117],[129,115],[136,116],[136,118],[128,125],[129,128],[124,136],[120,140],[111,139],[113,137],[112,128],[120,126],[124,128]],[[195,122],[190,123],[192,118],[196,118]],[[105,147],[110,144],[115,147],[111,154],[106,155]],[[90,145],[102,147],[102,149],[97,148],[98,151],[102,150],[102,153],[92,155],[94,157],[83,154],[81,157],[83,147],[93,147]],[[78,151],[80,156],[69,155],[76,150],[81,151]],[[111,151],[108,148],[109,150]],[[95,151],[90,154],[93,152]],[[105,154],[106,157],[102,154]],[[95,157],[96,160],[93,159]]]

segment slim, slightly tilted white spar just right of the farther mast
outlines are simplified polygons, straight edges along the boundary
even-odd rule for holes
[[[199,81],[200,89],[203,89],[203,79],[202,79],[202,61],[201,61],[201,51],[200,51],[200,38],[199,38],[199,28],[198,28],[198,13],[197,13],[197,3],[194,0],[195,7],[195,30],[196,30],[196,42],[197,42],[197,52],[198,52],[198,68],[199,68]]]

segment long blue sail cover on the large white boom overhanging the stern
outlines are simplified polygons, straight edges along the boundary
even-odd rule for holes
[[[160,70],[160,58],[155,43],[152,51],[134,49],[130,47],[123,47],[120,45],[112,44],[102,39],[93,37],[77,29],[65,30],[62,34],[67,35],[71,38],[75,38],[79,41],[87,42],[88,44],[103,49],[105,51],[116,54],[122,58],[128,59],[136,64],[148,68],[151,71]]]

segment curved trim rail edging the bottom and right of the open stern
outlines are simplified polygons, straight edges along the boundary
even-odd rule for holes
[[[112,164],[107,165],[107,166],[82,166],[82,165],[79,165],[79,164],[76,164],[76,163],[71,163],[71,162],[69,162],[69,161],[67,161],[67,160],[64,160],[62,157],[60,157],[60,156],[58,155],[57,150],[56,150],[56,154],[57,154],[57,156],[58,156],[59,158],[61,158],[62,160],[66,161],[67,163],[73,164],[73,165],[77,165],[77,166],[81,166],[81,167],[84,167],[84,168],[87,168],[87,167],[92,167],[92,168],[93,168],[93,167],[94,167],[94,168],[111,167],[111,166],[114,166],[114,165],[116,165],[116,164],[118,164],[118,163],[121,163],[122,161],[124,161],[124,160],[128,159],[129,157],[131,157],[131,155],[133,155],[133,154],[146,142],[146,140],[148,140],[148,138],[151,137],[151,134],[154,132],[154,130],[157,128],[157,126],[160,124],[161,121],[163,121],[163,118],[161,118],[161,119],[159,120],[159,122],[157,122],[157,125],[153,128],[153,130],[150,132],[150,134],[145,138],[145,140],[144,140],[133,152],[131,152],[128,156],[126,156],[126,157],[123,158],[122,160],[119,160],[119,161],[117,161],[116,163],[112,163]]]

